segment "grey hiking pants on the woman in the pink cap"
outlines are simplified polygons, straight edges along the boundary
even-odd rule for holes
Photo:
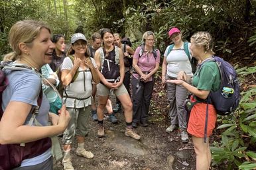
[[[166,75],[166,80],[175,79]],[[186,110],[184,108],[184,101],[188,97],[188,90],[182,85],[176,85],[174,83],[166,83],[167,99],[170,104],[170,124],[178,124],[180,128],[187,127],[186,122]]]

